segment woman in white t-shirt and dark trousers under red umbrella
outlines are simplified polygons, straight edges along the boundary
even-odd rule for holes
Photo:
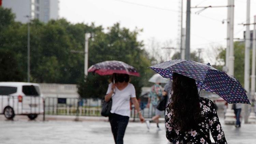
[[[139,113],[140,121],[144,121],[139,102],[136,99],[135,88],[129,82],[130,77],[128,74],[114,73],[112,83],[109,84],[105,95],[106,102],[110,101],[112,98],[109,121],[116,144],[123,144],[125,129],[130,117],[130,99]]]

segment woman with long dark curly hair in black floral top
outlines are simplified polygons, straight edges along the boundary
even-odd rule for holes
[[[193,78],[173,73],[171,103],[166,109],[166,137],[175,144],[227,144],[214,103],[199,97]]]

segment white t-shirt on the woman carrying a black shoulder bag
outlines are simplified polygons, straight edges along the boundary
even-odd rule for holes
[[[113,83],[109,84],[108,94],[111,91]],[[130,117],[130,98],[136,98],[135,88],[131,83],[123,89],[119,90],[115,87],[115,94],[112,96],[112,107],[111,113],[115,113],[122,116],[129,116]]]

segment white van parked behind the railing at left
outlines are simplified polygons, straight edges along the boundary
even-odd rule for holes
[[[0,82],[0,113],[7,119],[27,115],[32,120],[43,112],[43,97],[38,84]]]

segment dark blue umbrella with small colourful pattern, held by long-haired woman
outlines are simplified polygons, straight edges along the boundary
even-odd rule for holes
[[[250,104],[239,81],[234,76],[213,68],[210,63],[176,59],[150,68],[171,80],[173,72],[193,78],[197,81],[199,89],[216,93],[228,103]]]

